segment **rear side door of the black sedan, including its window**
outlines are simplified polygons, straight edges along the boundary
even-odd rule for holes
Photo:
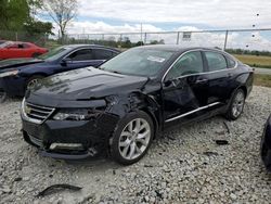
[[[227,59],[220,52],[204,51],[206,58],[207,69],[206,77],[209,81],[208,104],[215,102],[225,103],[230,97],[229,82],[231,79],[231,71],[228,68]]]

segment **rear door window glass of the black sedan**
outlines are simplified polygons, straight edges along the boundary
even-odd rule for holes
[[[217,52],[205,52],[209,72],[228,68],[225,58]]]

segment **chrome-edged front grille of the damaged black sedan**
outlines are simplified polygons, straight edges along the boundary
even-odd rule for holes
[[[41,124],[54,112],[53,107],[27,103],[25,100],[23,100],[22,109],[26,119],[36,124]]]

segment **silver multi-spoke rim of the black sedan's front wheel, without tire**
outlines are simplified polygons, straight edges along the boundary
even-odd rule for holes
[[[119,153],[126,160],[136,160],[145,152],[150,141],[150,124],[143,118],[136,118],[121,131],[118,142]]]

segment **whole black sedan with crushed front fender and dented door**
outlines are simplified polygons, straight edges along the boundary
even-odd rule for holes
[[[236,119],[253,69],[205,48],[130,49],[98,68],[49,77],[22,103],[24,138],[54,158],[109,154],[139,161],[168,125],[224,114]]]

